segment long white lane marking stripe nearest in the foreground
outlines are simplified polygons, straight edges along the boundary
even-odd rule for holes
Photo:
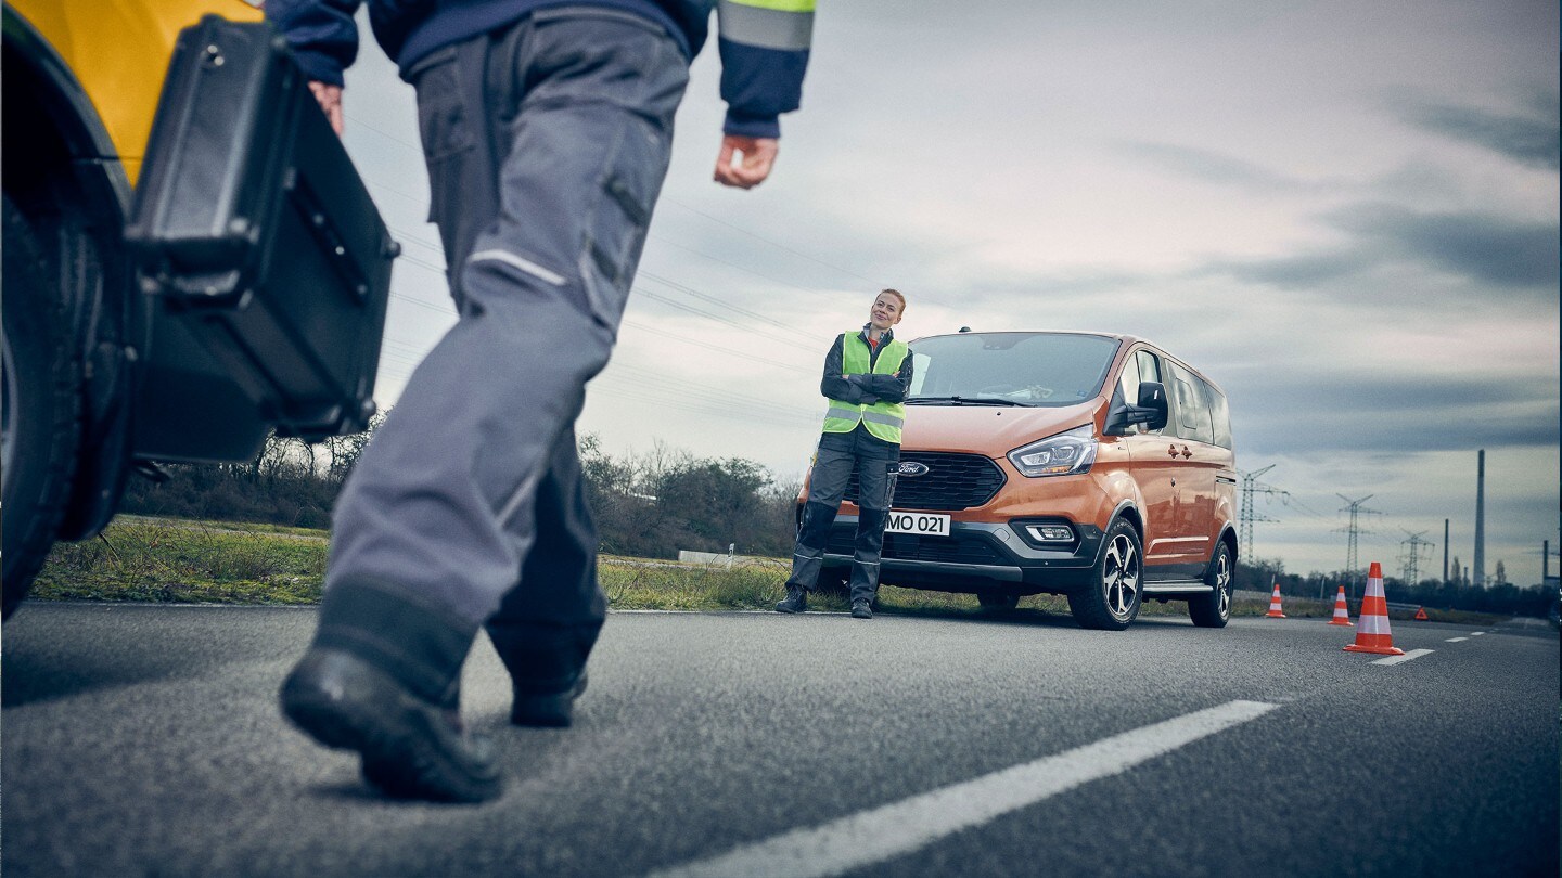
[[[1201,737],[1256,720],[1279,705],[1225,705],[1115,734],[972,781],[793,830],[650,878],[825,878],[911,853],[1093,780],[1112,776]]]

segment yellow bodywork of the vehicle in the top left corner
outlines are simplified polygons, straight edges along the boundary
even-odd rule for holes
[[[242,0],[6,0],[59,53],[134,186],[180,30],[208,12],[259,20]]]

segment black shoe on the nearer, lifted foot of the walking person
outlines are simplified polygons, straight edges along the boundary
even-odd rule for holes
[[[503,791],[489,741],[459,711],[415,695],[356,655],[314,647],[281,689],[283,712],[320,744],[356,750],[362,773],[395,798],[487,801]]]

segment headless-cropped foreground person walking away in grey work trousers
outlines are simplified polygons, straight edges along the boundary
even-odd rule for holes
[[[266,3],[337,131],[358,3]],[[617,337],[714,6],[715,180],[748,189],[798,106],[814,0],[370,0],[417,89],[459,322],[342,491],[320,625],[281,705],[358,751],[386,794],[501,792],[489,742],[459,720],[480,626],[514,681],[512,722],[569,725],[586,689],[606,601],[575,419]]]

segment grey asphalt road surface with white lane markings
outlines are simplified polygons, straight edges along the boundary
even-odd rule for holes
[[[373,797],[278,716],[311,609],[30,603],[5,626],[8,878],[1548,875],[1553,628],[609,617],[573,730],[486,806]],[[1462,637],[1462,639],[1460,639]]]

